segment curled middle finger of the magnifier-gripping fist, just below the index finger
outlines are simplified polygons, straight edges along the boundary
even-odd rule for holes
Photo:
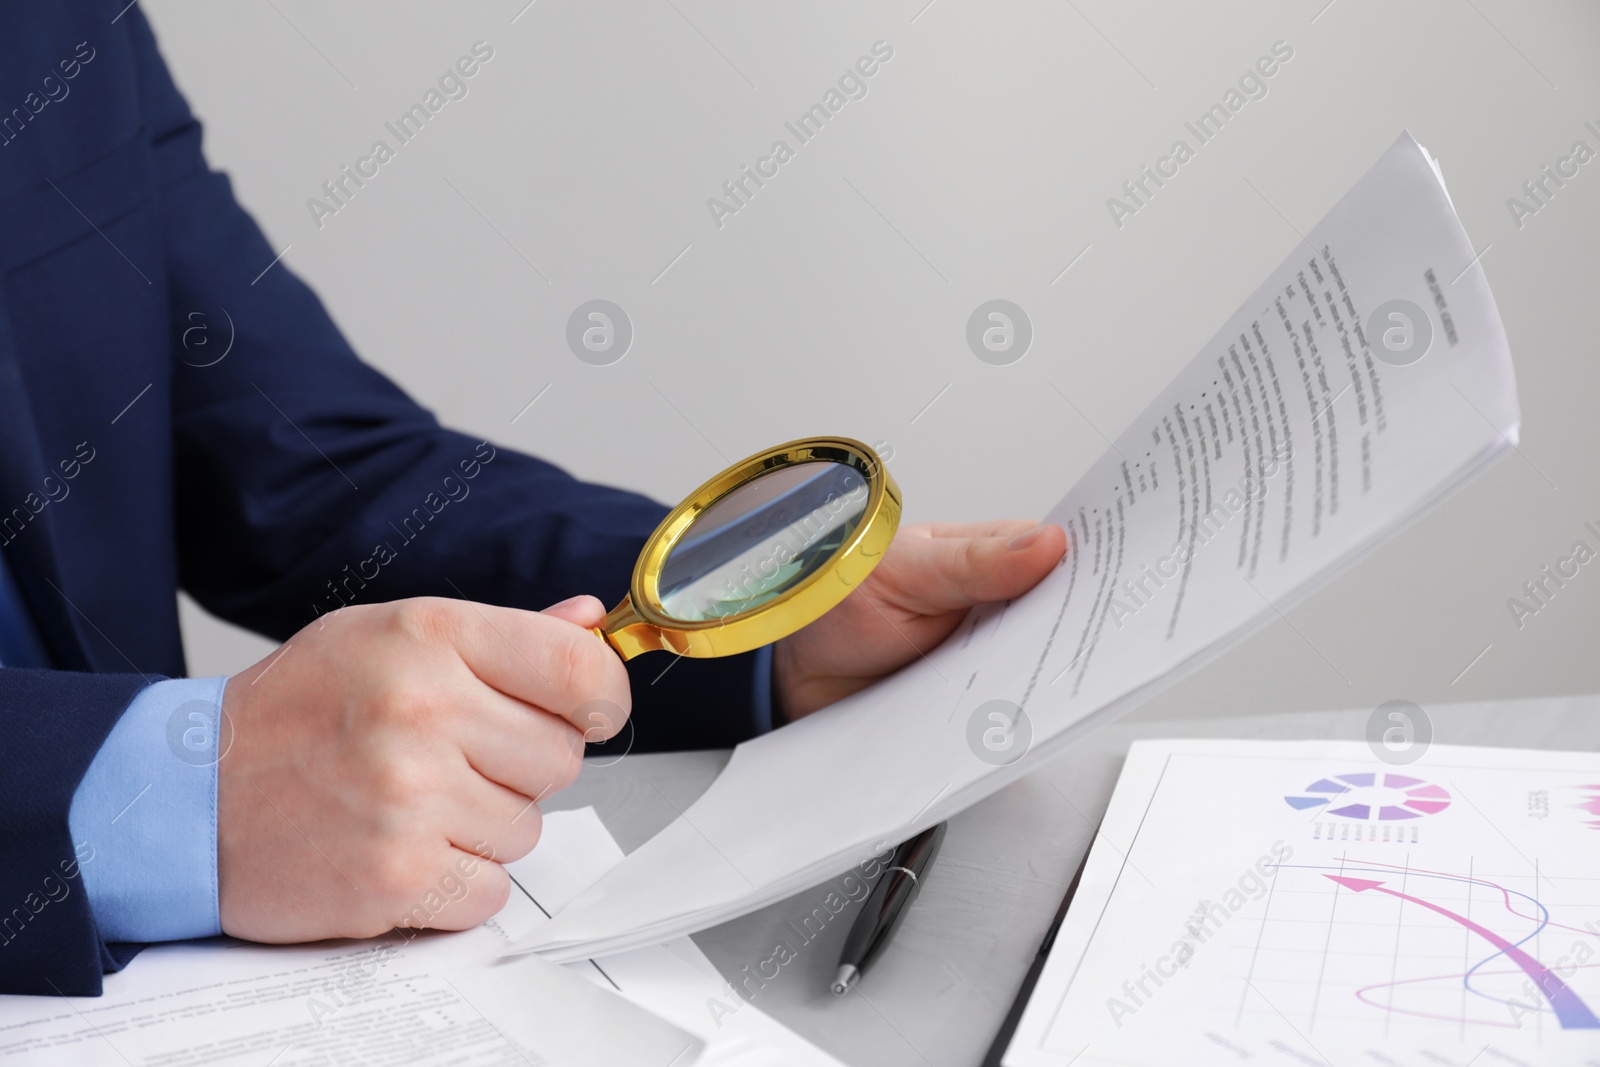
[[[454,733],[474,771],[533,800],[566,789],[582,769],[584,734],[573,723],[504,693],[482,691]]]

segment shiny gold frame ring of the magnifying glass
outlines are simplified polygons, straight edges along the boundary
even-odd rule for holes
[[[846,464],[867,485],[861,520],[834,555],[816,571],[755,608],[720,619],[677,619],[661,605],[661,571],[667,557],[702,512],[755,478],[806,462]],[[680,656],[734,656],[771,645],[827,614],[851,593],[894,539],[901,518],[901,493],[878,454],[848,437],[806,437],[741,459],[694,490],[650,534],[629,593],[594,629],[622,659],[640,653],[670,651]]]

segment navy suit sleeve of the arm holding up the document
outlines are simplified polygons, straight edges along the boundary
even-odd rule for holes
[[[206,166],[200,126],[139,10],[128,19],[163,213],[184,587],[275,638],[342,603],[402,597],[616,603],[666,509],[442,429],[362,363],[286,262],[266,269],[277,251]],[[227,357],[182,358],[189,315],[221,323],[221,309]],[[634,729],[611,747],[750,736],[754,654],[674,664],[658,653],[629,672]]]

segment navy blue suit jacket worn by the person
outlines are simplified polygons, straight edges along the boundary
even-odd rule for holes
[[[0,670],[5,993],[99,993],[131,955],[96,933],[67,809],[139,688],[184,673],[179,589],[280,640],[349,598],[610,605],[666,510],[442,429],[262,274],[275,250],[123,3],[0,16],[0,544],[59,667]],[[750,656],[653,685],[669,662],[630,664],[613,744],[750,733]]]

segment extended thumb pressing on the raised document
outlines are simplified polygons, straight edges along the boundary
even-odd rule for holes
[[[1018,547],[1011,547],[1018,545]],[[922,614],[1010,600],[1032,589],[1066,552],[1067,534],[1048,525],[1021,536],[907,537],[883,560],[902,603]]]

